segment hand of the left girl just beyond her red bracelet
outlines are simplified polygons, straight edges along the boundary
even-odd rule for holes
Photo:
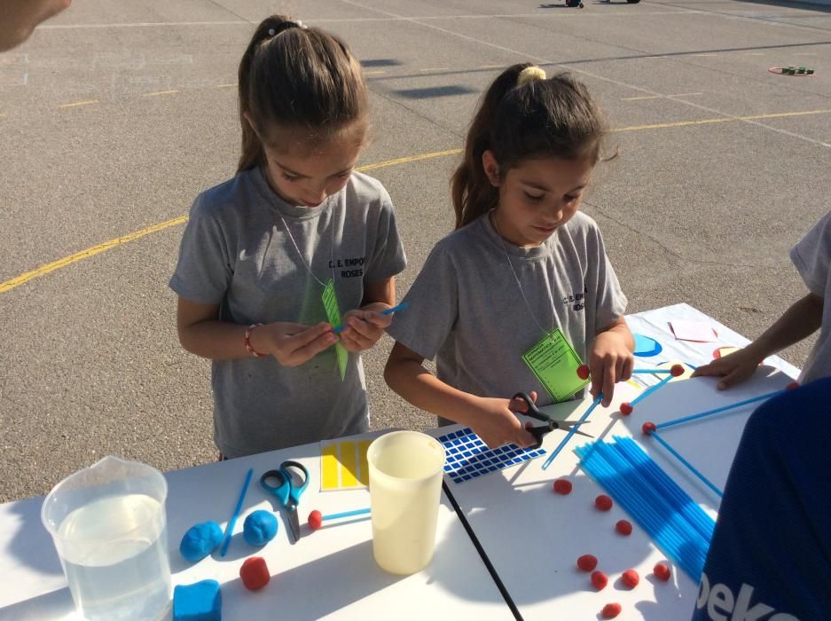
[[[258,326],[251,332],[251,347],[277,358],[282,366],[300,366],[338,342],[332,326],[324,322],[303,326],[289,321]]]

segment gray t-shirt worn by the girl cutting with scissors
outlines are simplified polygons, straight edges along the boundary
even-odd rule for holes
[[[626,309],[600,229],[580,212],[537,248],[503,241],[482,216],[436,244],[404,299],[388,333],[435,358],[439,379],[480,397],[537,390],[540,405],[553,399],[521,358],[545,336],[540,326],[559,326],[585,360]]]

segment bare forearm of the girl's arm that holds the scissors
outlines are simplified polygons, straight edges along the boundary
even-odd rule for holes
[[[439,380],[418,361],[389,361],[384,379],[391,389],[419,409],[470,425],[470,412],[477,397]]]

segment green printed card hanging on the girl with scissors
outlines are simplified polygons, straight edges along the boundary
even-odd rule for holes
[[[583,361],[558,327],[522,355],[554,401],[564,401],[589,384],[577,376]]]

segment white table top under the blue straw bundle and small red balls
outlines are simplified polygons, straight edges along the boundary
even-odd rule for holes
[[[667,325],[670,318],[707,320],[716,327],[719,342],[676,342]],[[633,332],[653,336],[664,347],[659,357],[639,359],[639,367],[651,368],[656,362],[664,361],[689,362],[698,366],[711,358],[711,352],[718,344],[740,346],[747,343],[738,334],[686,304],[627,319]],[[772,362],[786,365],[778,359]],[[793,367],[788,370],[796,375]],[[622,417],[617,412],[618,405],[631,401],[641,390],[625,383],[618,384],[612,405],[595,409],[590,417],[592,422],[582,429],[607,441],[611,441],[612,436],[635,437],[676,483],[715,516],[719,497],[656,444],[654,438],[643,436],[642,424],[674,420],[719,405],[733,404],[783,388],[790,381],[790,377],[771,367],[760,369],[752,380],[726,392],[717,392],[716,381],[711,378],[679,378],[636,405],[630,417]],[[576,420],[588,405],[590,400],[544,409],[555,418]],[[662,432],[662,437],[723,490],[741,430],[757,405],[668,428]],[[448,433],[450,429],[453,428],[443,428],[436,435]],[[546,436],[545,449],[551,452],[564,436],[559,431]],[[572,449],[585,441],[574,436],[546,470],[542,469],[542,464],[547,456],[465,483],[448,483],[452,496],[464,511],[521,617],[526,620],[595,619],[600,618],[600,610],[606,603],[616,601],[623,606],[618,618],[655,621],[689,618],[694,609],[697,581],[687,577],[671,562],[670,583],[655,580],[651,576],[655,563],[667,561],[667,558],[646,532],[616,504],[608,513],[594,508],[595,497],[607,492],[577,467],[578,459]],[[568,496],[552,491],[553,481],[561,476],[568,476],[574,483]],[[630,537],[615,532],[615,523],[622,518],[633,523],[634,531]],[[589,574],[576,569],[576,559],[582,554],[594,554],[600,560],[598,569],[605,571],[609,578],[603,591],[597,592]],[[627,569],[637,570],[641,578],[639,586],[632,590],[619,581]]]

